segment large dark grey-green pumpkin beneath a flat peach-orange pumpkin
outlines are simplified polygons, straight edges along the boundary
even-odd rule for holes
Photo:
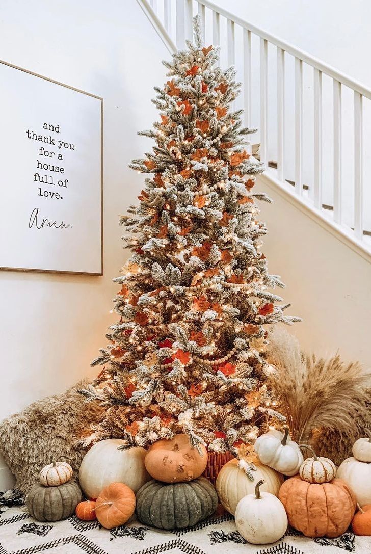
[[[213,514],[218,496],[213,485],[200,477],[185,483],[148,481],[136,495],[138,520],[158,529],[182,529]]]

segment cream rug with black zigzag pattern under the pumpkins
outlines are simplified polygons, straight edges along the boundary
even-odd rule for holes
[[[371,537],[347,532],[339,538],[311,539],[288,531],[275,545],[250,545],[236,530],[233,517],[224,515],[179,531],[148,528],[135,519],[111,531],[96,521],[41,523],[24,506],[0,504],[0,554],[355,554],[371,553]]]

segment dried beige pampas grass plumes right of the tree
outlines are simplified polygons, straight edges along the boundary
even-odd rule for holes
[[[269,339],[267,362],[276,367],[270,382],[293,440],[309,442],[319,429],[357,435],[367,417],[371,371],[342,362],[338,354],[325,360],[302,353],[297,339],[279,326]]]

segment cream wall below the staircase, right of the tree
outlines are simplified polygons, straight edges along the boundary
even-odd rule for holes
[[[267,224],[264,254],[270,273],[281,275],[291,302],[287,314],[303,321],[288,327],[302,347],[371,366],[371,264],[287,202],[278,189],[259,183],[273,204],[260,202]]]

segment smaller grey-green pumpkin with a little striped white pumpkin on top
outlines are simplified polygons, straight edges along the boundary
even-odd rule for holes
[[[83,500],[79,485],[65,483],[59,486],[43,486],[37,483],[27,495],[27,509],[38,521],[59,521],[75,513]]]

